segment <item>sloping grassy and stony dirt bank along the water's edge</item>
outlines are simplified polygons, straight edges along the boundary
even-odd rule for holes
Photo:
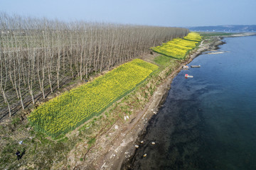
[[[149,119],[161,106],[172,79],[183,64],[188,64],[201,52],[213,50],[216,45],[222,43],[217,37],[207,41],[206,44],[204,42],[206,41],[203,40],[196,49],[188,52],[183,60],[159,57],[156,54],[154,54],[156,57],[152,55],[142,57],[142,60],[148,61],[154,58],[154,62],[159,64],[161,69],[151,74],[134,91],[103,113],[102,118],[109,118],[109,123],[102,124],[100,120],[92,120],[96,126],[100,125],[102,128],[96,130],[96,133],[92,132],[94,136],[91,135],[92,140],[89,142],[80,142],[76,145],[75,149],[68,153],[67,161],[63,164],[55,164],[53,169],[64,168],[63,166],[70,169],[120,169],[124,160],[134,153],[134,145],[139,143],[137,137],[142,135]],[[85,125],[81,131],[92,128]]]

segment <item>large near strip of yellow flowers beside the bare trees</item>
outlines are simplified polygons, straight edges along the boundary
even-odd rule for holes
[[[77,128],[99,115],[138,86],[158,67],[135,59],[39,106],[28,117],[33,127],[52,137]]]

